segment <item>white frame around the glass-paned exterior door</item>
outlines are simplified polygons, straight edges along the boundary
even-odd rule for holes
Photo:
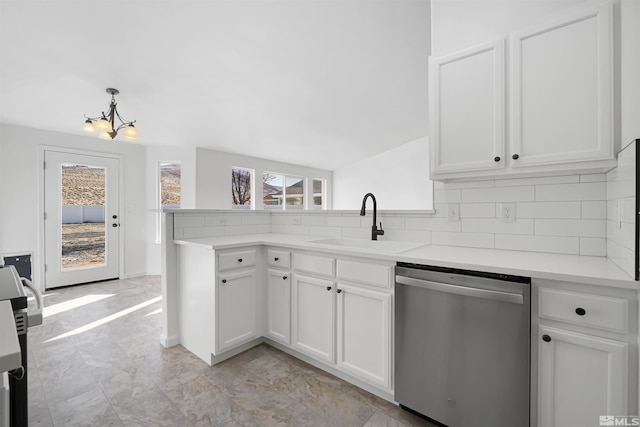
[[[36,170],[38,171],[37,180],[38,180],[38,191],[36,197],[38,198],[36,201],[36,206],[38,209],[38,215],[40,219],[38,220],[38,250],[32,259],[32,270],[34,279],[37,277],[38,279],[34,281],[35,286],[41,292],[45,291],[45,223],[44,223],[44,211],[45,211],[45,203],[44,203],[44,186],[45,186],[45,173],[44,173],[44,155],[45,151],[55,151],[57,153],[66,153],[66,154],[79,154],[84,156],[95,156],[95,157],[106,157],[109,159],[118,160],[118,218],[120,219],[120,239],[118,239],[118,276],[120,278],[124,277],[124,230],[126,229],[127,222],[123,221],[122,212],[124,209],[124,156],[122,154],[109,153],[105,151],[92,151],[92,150],[81,150],[77,148],[70,147],[60,147],[55,145],[39,145],[38,146],[38,166]]]

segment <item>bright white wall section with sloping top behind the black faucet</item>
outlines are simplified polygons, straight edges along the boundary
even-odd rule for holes
[[[333,209],[360,209],[366,193],[378,209],[433,208],[429,138],[424,137],[333,171]]]

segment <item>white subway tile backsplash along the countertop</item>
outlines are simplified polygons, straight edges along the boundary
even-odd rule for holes
[[[381,212],[378,222],[382,222],[385,235],[380,239],[610,256],[626,270],[632,263],[633,238],[627,231],[632,226],[631,201],[635,200],[629,194],[628,176],[628,172],[614,169],[608,174],[436,182],[435,212]],[[447,218],[450,203],[459,205],[459,220]],[[502,203],[514,205],[515,221],[501,220]],[[622,228],[614,217],[626,218]],[[194,211],[176,213],[175,235],[273,232],[367,239],[371,224],[370,207],[365,217],[357,211]]]

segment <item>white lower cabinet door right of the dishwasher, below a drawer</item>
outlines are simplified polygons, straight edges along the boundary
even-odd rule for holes
[[[627,410],[627,344],[540,326],[538,425],[597,426]]]

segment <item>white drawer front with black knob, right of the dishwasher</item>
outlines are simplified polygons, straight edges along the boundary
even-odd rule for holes
[[[624,298],[540,288],[538,315],[593,328],[626,333],[628,306]]]

